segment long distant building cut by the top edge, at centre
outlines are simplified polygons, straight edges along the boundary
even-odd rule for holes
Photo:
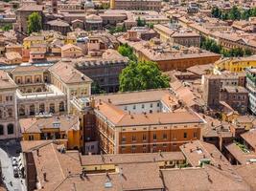
[[[111,0],[110,9],[112,10],[139,10],[139,11],[160,11],[162,2],[160,0]]]

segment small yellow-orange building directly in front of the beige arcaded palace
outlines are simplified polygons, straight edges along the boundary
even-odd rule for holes
[[[19,119],[23,140],[60,140],[66,142],[67,149],[81,150],[81,127],[79,117],[29,117]]]

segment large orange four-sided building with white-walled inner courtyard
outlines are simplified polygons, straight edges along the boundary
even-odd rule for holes
[[[178,151],[200,138],[204,120],[185,109],[168,90],[94,96],[95,131],[99,148],[107,154]],[[89,100],[73,99],[72,111]],[[88,106],[87,106],[88,107]]]

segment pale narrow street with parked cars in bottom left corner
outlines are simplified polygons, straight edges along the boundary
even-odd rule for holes
[[[0,143],[0,160],[2,165],[2,173],[4,183],[9,191],[25,191],[24,183],[21,183],[21,179],[16,179],[13,176],[12,157],[17,157],[16,151],[17,144],[9,142]],[[11,183],[12,182],[12,183]],[[23,180],[24,182],[24,180]]]

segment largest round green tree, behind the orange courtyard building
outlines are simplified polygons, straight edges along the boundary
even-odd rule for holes
[[[154,62],[130,61],[120,74],[119,83],[121,92],[168,88],[169,77],[161,74]]]

